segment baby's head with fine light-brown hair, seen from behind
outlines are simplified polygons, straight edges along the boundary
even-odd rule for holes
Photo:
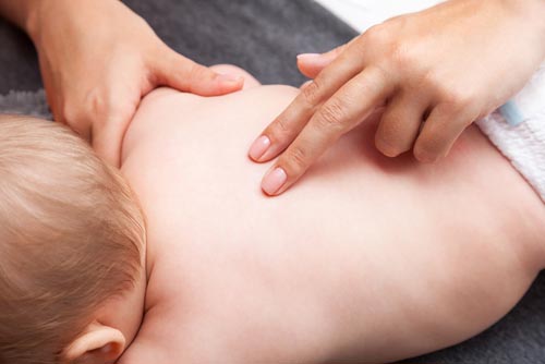
[[[117,170],[62,125],[0,117],[0,363],[119,356],[142,318],[144,251]]]

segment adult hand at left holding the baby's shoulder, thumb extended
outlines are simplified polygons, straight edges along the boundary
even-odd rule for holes
[[[121,1],[55,0],[36,7],[28,33],[55,119],[112,165],[120,162],[141,98],[155,87],[203,96],[242,87],[241,77],[219,75],[171,50]]]

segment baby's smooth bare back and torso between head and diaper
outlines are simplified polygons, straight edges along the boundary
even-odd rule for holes
[[[284,86],[148,96],[123,172],[148,219],[141,332],[121,363],[382,363],[504,316],[545,262],[545,208],[472,128],[438,166],[388,159],[375,124],[287,194],[259,191],[253,137]]]

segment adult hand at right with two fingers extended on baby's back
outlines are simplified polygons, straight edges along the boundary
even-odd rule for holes
[[[281,153],[264,192],[283,193],[379,106],[386,109],[375,144],[383,154],[446,156],[468,125],[521,89],[544,60],[543,19],[543,0],[452,0],[391,19],[331,52],[301,56],[300,70],[314,82],[250,150],[258,162]]]

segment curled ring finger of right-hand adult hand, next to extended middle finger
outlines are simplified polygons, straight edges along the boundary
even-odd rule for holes
[[[413,95],[400,92],[386,107],[375,135],[375,145],[388,157],[412,149],[424,121],[426,104]]]

